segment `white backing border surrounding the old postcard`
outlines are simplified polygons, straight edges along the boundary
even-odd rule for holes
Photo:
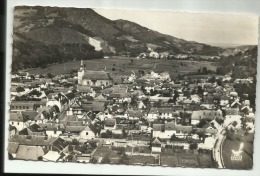
[[[8,108],[10,100],[10,71],[12,59],[12,23],[13,7],[16,5],[41,5],[60,7],[89,7],[110,9],[134,9],[134,10],[158,10],[175,12],[202,12],[202,13],[244,13],[260,16],[260,0],[8,0],[7,2],[7,35],[6,35],[6,98],[5,98],[5,151],[8,138]],[[258,46],[259,51],[260,46]],[[259,56],[258,56],[259,58]],[[258,64],[258,72],[260,64]],[[257,80],[260,80],[259,74]],[[256,104],[259,107],[260,83],[257,82]],[[257,108],[256,108],[257,109]],[[259,111],[256,112],[256,131],[254,141],[254,167],[252,170],[227,170],[227,169],[200,169],[200,168],[165,168],[150,166],[117,166],[117,165],[93,165],[78,163],[47,163],[31,161],[10,161],[5,152],[4,172],[7,173],[59,173],[59,174],[114,174],[114,175],[260,175],[260,120],[257,119]]]

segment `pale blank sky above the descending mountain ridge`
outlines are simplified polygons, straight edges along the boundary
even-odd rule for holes
[[[94,9],[111,19],[138,23],[163,34],[207,44],[258,44],[257,16]]]

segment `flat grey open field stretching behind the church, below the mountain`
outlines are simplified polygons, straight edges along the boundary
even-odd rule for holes
[[[132,61],[131,61],[132,60]],[[84,60],[86,68],[89,70],[106,69],[114,74],[130,75],[132,71],[138,73],[139,70],[152,69],[155,72],[169,72],[173,77],[178,75],[197,72],[198,69],[206,67],[208,70],[216,70],[216,64],[207,61],[187,61],[187,60],[159,60],[142,59],[129,57],[111,57],[108,59]],[[80,61],[70,61],[47,66],[47,68],[35,68],[27,70],[31,74],[65,74],[73,69],[78,69]]]

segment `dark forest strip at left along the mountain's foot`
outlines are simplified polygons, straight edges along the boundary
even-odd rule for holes
[[[19,69],[45,68],[48,64],[72,60],[103,58],[90,44],[50,45],[27,39],[13,44],[12,71]]]

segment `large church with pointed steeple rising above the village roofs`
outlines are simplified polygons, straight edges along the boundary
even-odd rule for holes
[[[78,70],[78,84],[86,86],[110,86],[113,85],[113,79],[109,73],[102,71],[86,70],[83,61]]]

